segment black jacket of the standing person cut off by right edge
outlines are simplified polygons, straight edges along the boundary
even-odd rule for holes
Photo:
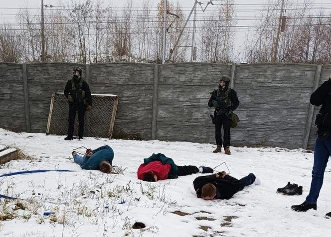
[[[320,115],[316,118],[319,132],[331,131],[331,79],[313,92],[310,102],[312,105],[322,105]]]

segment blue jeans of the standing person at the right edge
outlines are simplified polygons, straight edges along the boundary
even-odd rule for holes
[[[331,155],[331,138],[322,140],[317,138],[314,150],[314,166],[312,172],[312,184],[306,202],[316,204],[323,185],[324,172]]]

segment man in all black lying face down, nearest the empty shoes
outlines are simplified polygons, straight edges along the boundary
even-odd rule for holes
[[[230,199],[235,193],[253,183],[256,185],[261,184],[260,180],[252,173],[241,180],[237,180],[227,175],[225,171],[222,171],[214,175],[195,178],[193,186],[198,198],[213,200]]]

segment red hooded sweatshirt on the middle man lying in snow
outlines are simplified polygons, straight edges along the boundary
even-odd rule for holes
[[[170,172],[170,164],[163,165],[161,161],[152,161],[147,165],[145,163],[141,164],[138,168],[138,179],[144,179],[144,174],[153,171],[158,177],[158,180],[166,180]]]

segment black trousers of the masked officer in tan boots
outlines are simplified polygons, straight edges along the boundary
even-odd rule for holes
[[[214,121],[215,121],[215,139],[216,145],[220,145],[226,148],[230,146],[231,134],[231,119],[229,116],[225,114],[216,115],[214,114]],[[224,132],[224,142],[222,143],[222,127]]]

